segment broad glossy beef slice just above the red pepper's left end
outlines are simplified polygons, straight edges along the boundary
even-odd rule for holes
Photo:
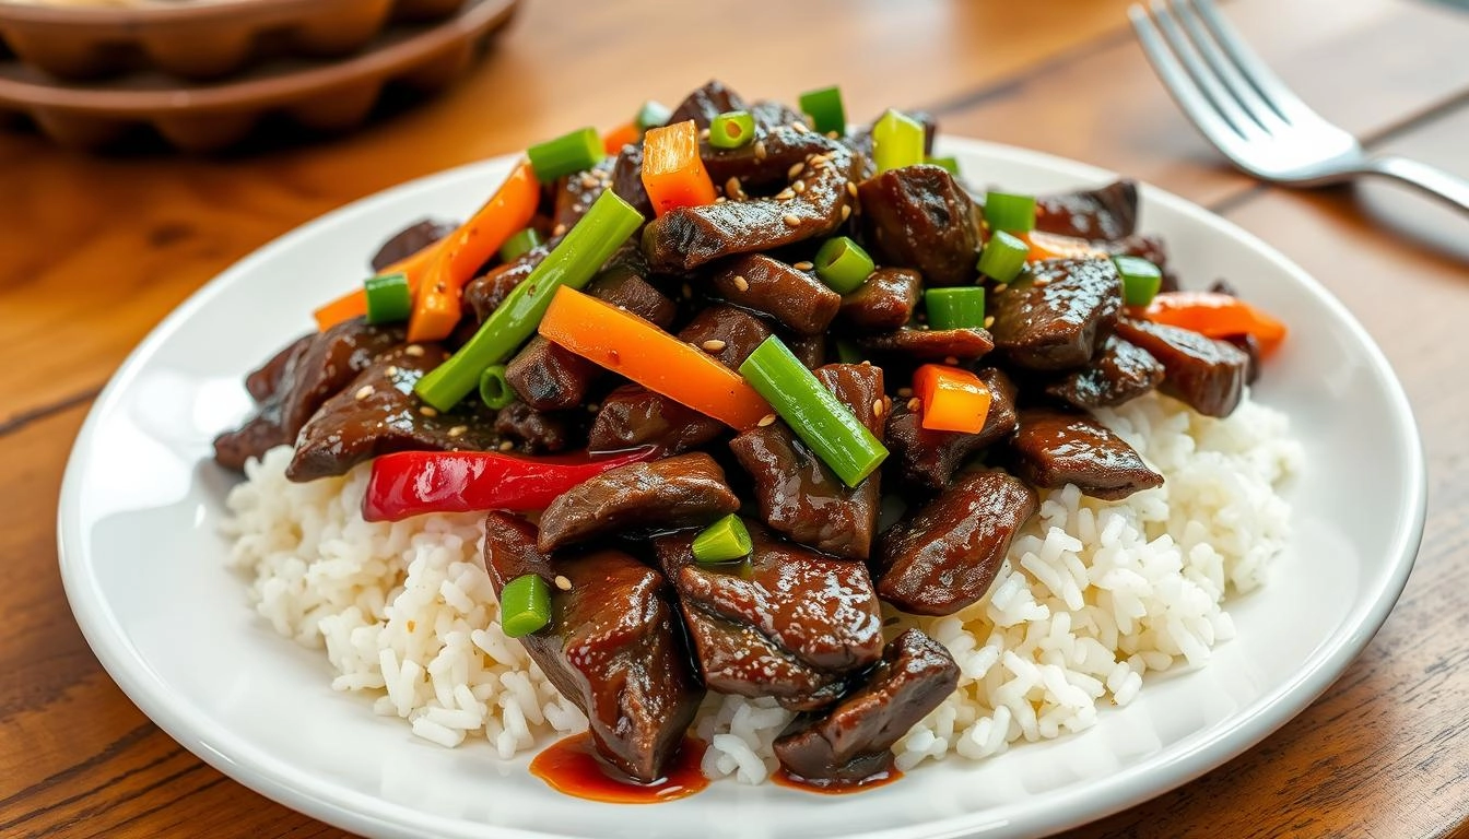
[[[347,475],[353,466],[391,451],[477,451],[499,445],[489,411],[477,400],[450,413],[422,411],[413,385],[450,354],[438,344],[413,347],[422,351],[410,354],[408,347],[398,347],[378,356],[322,404],[297,436],[286,478],[306,482]]]

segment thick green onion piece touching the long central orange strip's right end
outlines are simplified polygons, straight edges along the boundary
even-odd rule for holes
[[[848,486],[861,483],[887,457],[873,432],[780,338],[765,338],[739,366],[739,373]]]

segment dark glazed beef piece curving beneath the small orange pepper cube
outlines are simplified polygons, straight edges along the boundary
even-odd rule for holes
[[[967,460],[1015,431],[1015,384],[997,367],[981,367],[975,375],[990,391],[990,410],[978,433],[928,431],[923,428],[923,413],[905,401],[893,404],[883,442],[892,453],[890,469],[905,486],[943,489]]]

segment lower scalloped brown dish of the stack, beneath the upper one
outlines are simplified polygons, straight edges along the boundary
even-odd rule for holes
[[[361,123],[383,85],[436,91],[460,76],[519,0],[467,0],[448,21],[388,26],[357,56],[338,62],[273,59],[220,84],[181,85],[159,72],[93,85],[57,82],[18,60],[0,60],[0,116],[28,115],[54,141],[100,148],[150,125],[188,151],[242,140],[269,113],[320,131]]]

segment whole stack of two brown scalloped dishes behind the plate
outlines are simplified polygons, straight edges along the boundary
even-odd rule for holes
[[[103,148],[216,151],[266,118],[322,132],[458,78],[519,0],[0,0],[0,122]]]

